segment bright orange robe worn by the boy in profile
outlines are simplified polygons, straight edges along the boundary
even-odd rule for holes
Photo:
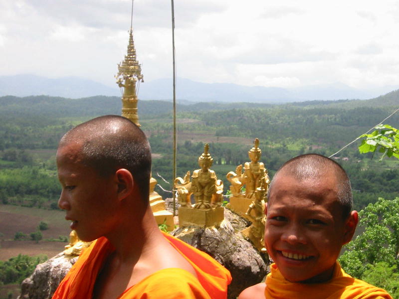
[[[123,292],[118,299],[225,299],[231,282],[228,270],[202,251],[164,233],[170,244],[193,266],[191,273],[168,268],[157,271]],[[104,237],[85,249],[62,280],[53,299],[89,299],[99,271],[114,250]]]

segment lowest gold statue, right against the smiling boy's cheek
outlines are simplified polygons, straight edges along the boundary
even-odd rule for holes
[[[264,232],[265,232],[265,202],[263,198],[265,197],[266,189],[264,188],[264,181],[261,181],[259,187],[256,188],[255,199],[249,205],[245,215],[248,216],[252,224],[250,227],[244,229],[242,234],[251,240],[253,245],[261,252],[266,252],[264,247]],[[253,211],[253,213],[251,213]],[[254,214],[254,215],[253,215]]]

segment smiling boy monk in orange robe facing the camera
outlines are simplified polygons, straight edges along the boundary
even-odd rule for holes
[[[266,282],[239,299],[391,298],[337,262],[358,224],[351,184],[338,163],[318,154],[286,162],[270,184],[265,212],[265,246],[274,264]]]

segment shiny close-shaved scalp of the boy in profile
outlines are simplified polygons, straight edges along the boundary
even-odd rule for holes
[[[148,201],[151,173],[151,148],[143,131],[128,119],[117,115],[97,117],[68,131],[59,149],[77,144],[73,158],[107,177],[120,168],[129,170],[141,197]]]

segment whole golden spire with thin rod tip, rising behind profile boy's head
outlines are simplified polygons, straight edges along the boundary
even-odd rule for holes
[[[125,60],[118,64],[118,74],[115,76],[116,83],[122,89],[122,116],[131,120],[137,126],[139,124],[139,116],[137,115],[137,91],[138,85],[144,82],[141,73],[141,65],[136,58],[136,49],[133,41],[133,0],[132,0],[132,18],[129,31],[128,53]]]

